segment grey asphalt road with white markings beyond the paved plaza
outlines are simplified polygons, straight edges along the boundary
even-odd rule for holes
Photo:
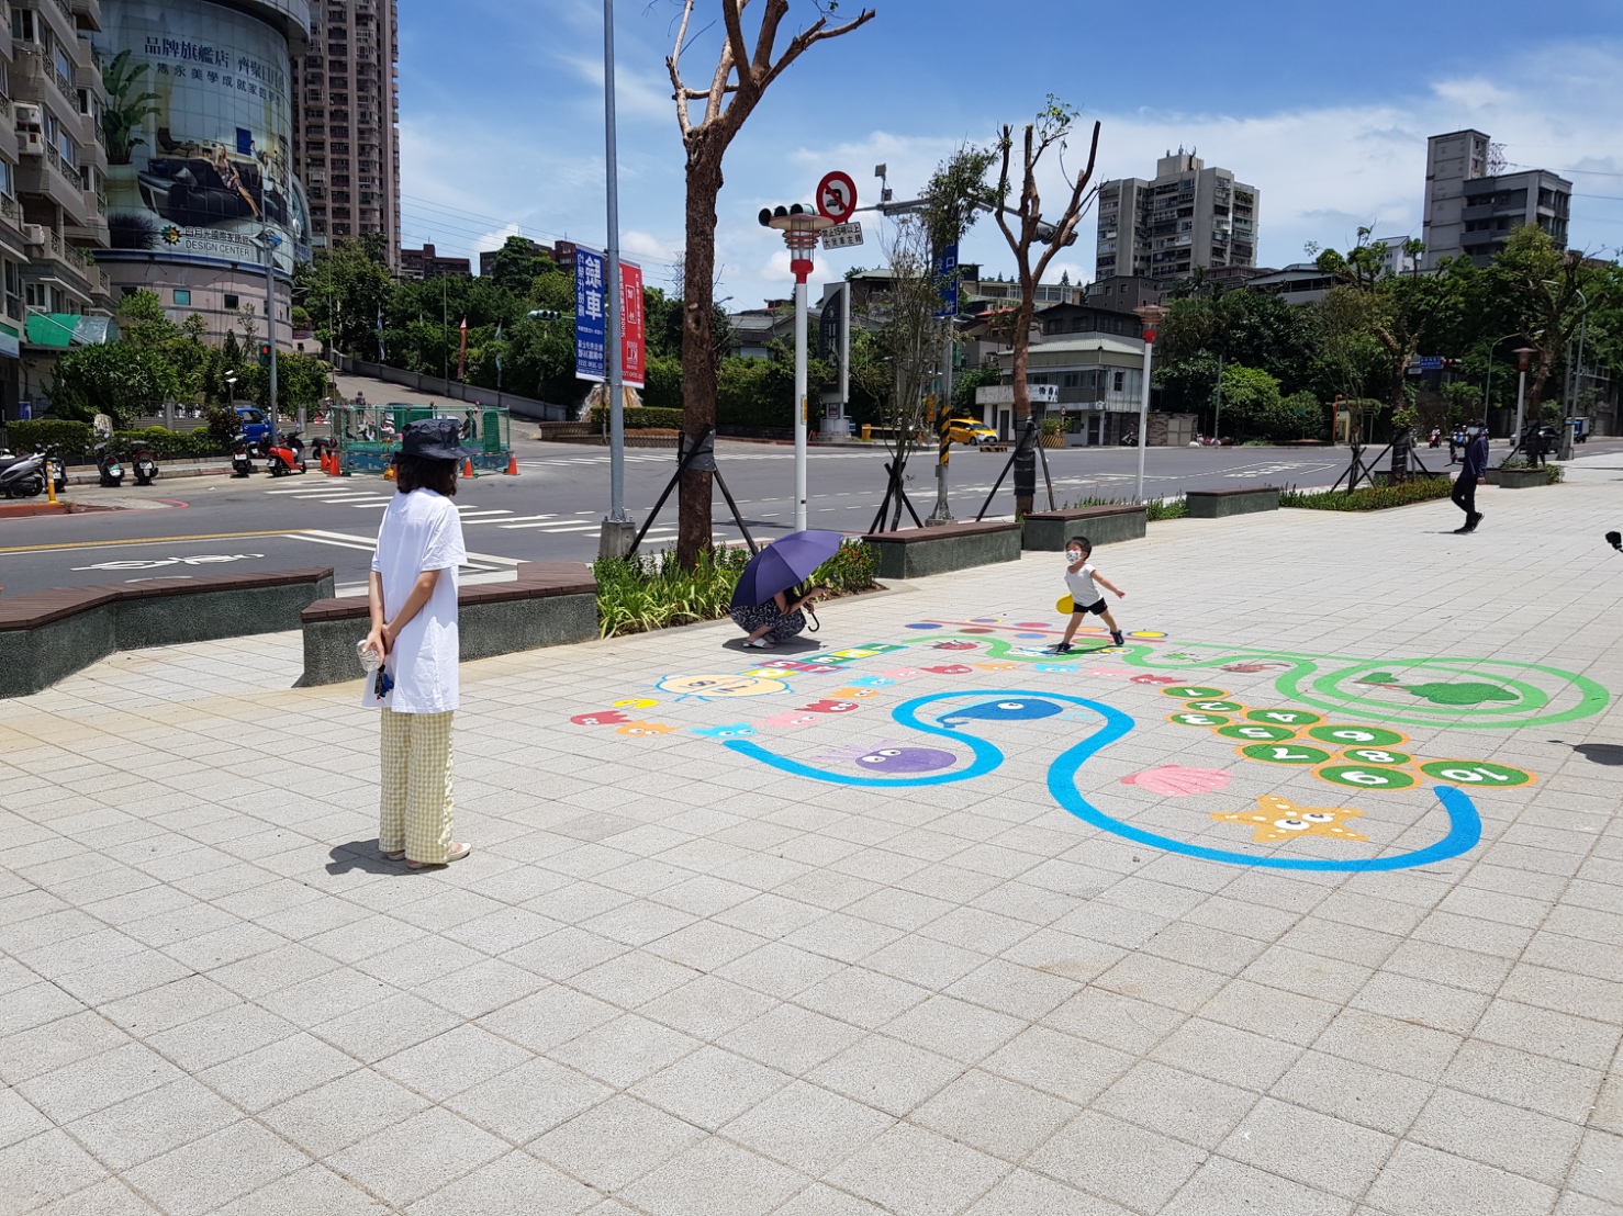
[[[1612,441],[1617,446],[1617,441]],[[1602,443],[1591,444],[1592,449]],[[466,579],[506,579],[521,561],[591,561],[609,507],[609,454],[599,447],[518,444],[519,477],[464,482],[456,498],[469,550]],[[1131,447],[1048,451],[1055,501],[1084,496],[1131,498],[1138,452]],[[1422,451],[1433,469],[1446,449]],[[951,464],[951,506],[974,519],[1006,456],[958,449]],[[745,524],[758,537],[794,527],[794,451],[787,446],[727,443],[717,462]],[[1328,447],[1151,447],[1146,495],[1243,485],[1326,486],[1345,469],[1345,449]],[[675,467],[669,449],[626,452],[626,498],[638,522],[648,517]],[[909,495],[920,516],[935,504],[933,465],[919,460]],[[885,454],[873,449],[813,447],[808,457],[812,527],[865,532],[885,493]],[[0,520],[0,585],[6,595],[44,587],[133,582],[204,572],[333,566],[339,590],[364,587],[378,514],[393,485],[378,477],[328,478],[318,472],[271,480],[255,473],[159,478],[151,488],[71,490],[76,501],[144,509],[97,511]],[[1045,504],[1039,473],[1039,507]],[[1013,511],[1005,480],[987,517]],[[904,524],[907,522],[904,516]],[[725,503],[716,495],[716,538],[738,540]],[[649,530],[644,550],[675,538],[675,495]]]

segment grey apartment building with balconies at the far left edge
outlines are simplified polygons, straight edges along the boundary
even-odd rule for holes
[[[0,405],[15,413],[49,379],[57,334],[107,311],[105,92],[89,42],[101,0],[0,10]]]

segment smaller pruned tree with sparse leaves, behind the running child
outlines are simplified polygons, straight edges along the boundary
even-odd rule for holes
[[[1048,104],[1037,112],[1034,122],[1026,123],[1022,141],[1024,165],[1021,172],[1019,201],[1011,206],[1010,193],[1014,183],[1010,177],[1010,157],[1014,151],[1014,128],[1005,126],[998,135],[998,152],[1001,169],[998,172],[997,209],[993,214],[1003,240],[1014,253],[1014,264],[1019,271],[1019,306],[1014,310],[1010,339],[1014,344],[1014,420],[1022,426],[1031,417],[1031,391],[1026,386],[1026,366],[1031,355],[1031,323],[1037,311],[1037,284],[1061,248],[1076,240],[1076,225],[1097,191],[1089,190],[1094,177],[1094,162],[1099,157],[1099,123],[1094,123],[1094,138],[1087,146],[1087,164],[1073,178],[1065,170],[1065,148],[1071,126],[1076,122],[1076,110],[1061,102],[1052,92]],[[1070,186],[1070,198],[1065,211],[1053,222],[1042,219],[1042,195],[1037,190],[1037,165],[1044,154],[1058,146],[1060,169],[1065,183]],[[1010,222],[1013,217],[1013,224]],[[1042,256],[1032,264],[1032,245],[1044,245]],[[1143,438],[1139,439],[1143,443]],[[1024,469],[1018,462],[1014,469],[1014,514],[1031,512],[1031,499],[1035,493],[1035,456],[1021,452],[1026,457]]]

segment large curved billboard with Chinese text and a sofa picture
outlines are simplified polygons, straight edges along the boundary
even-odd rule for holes
[[[206,0],[120,0],[96,37],[107,84],[107,225],[120,250],[276,266],[308,256],[292,175],[287,42]]]

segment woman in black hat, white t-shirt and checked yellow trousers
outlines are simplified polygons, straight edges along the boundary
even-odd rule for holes
[[[412,869],[466,858],[451,840],[451,715],[458,704],[456,569],[467,561],[451,506],[466,456],[454,418],[401,435],[394,498],[372,558],[372,631],[383,663],[365,704],[383,710],[378,850]]]

